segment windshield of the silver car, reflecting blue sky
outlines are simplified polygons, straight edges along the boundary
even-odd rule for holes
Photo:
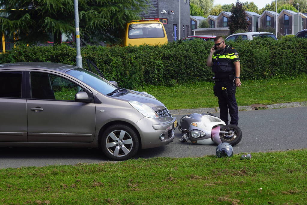
[[[107,80],[83,68],[74,68],[72,70],[67,71],[66,73],[86,83],[87,85],[104,95],[107,95],[108,93],[111,93],[112,91],[117,89],[117,87],[115,87]]]

